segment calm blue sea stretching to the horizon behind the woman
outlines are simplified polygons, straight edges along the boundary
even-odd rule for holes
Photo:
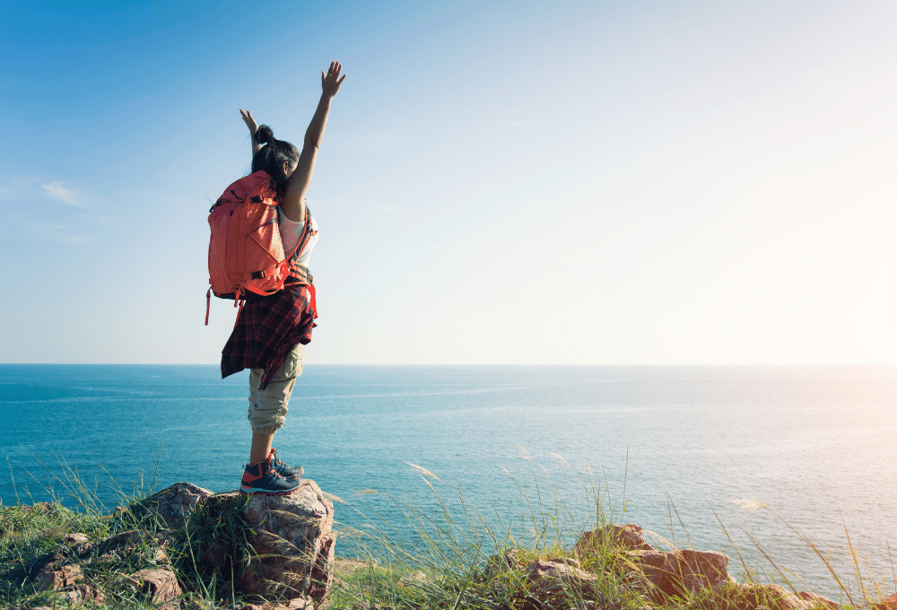
[[[2,500],[44,500],[45,488],[65,496],[53,476],[59,459],[95,480],[109,507],[110,475],[129,492],[141,472],[152,479],[157,457],[157,488],[234,489],[248,455],[246,384],[245,375],[222,381],[215,366],[0,365]],[[394,522],[388,497],[356,491],[430,510],[432,492],[408,463],[459,484],[470,505],[515,531],[529,511],[521,490],[537,506],[536,482],[542,492],[553,482],[573,513],[590,514],[579,480],[588,467],[618,511],[629,500],[625,521],[727,552],[733,571],[716,516],[752,565],[770,569],[739,526],[837,598],[823,563],[771,511],[739,510],[756,499],[831,548],[848,579],[845,528],[875,574],[893,581],[894,368],[307,365],[290,406],[275,437],[281,457]],[[336,510],[346,526],[365,523]]]

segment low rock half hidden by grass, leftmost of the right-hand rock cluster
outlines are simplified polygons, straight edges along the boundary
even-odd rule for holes
[[[558,558],[529,564],[527,590],[539,607],[581,608],[596,604],[597,582],[598,577],[581,570],[576,560]]]

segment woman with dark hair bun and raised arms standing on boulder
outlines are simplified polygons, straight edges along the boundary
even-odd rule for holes
[[[222,351],[222,378],[250,369],[248,420],[252,443],[240,483],[240,491],[245,493],[283,495],[300,486],[302,466],[280,461],[272,442],[274,432],[283,426],[293,385],[302,372],[302,345],[311,341],[317,317],[308,262],[318,241],[318,227],[305,205],[305,193],[327,126],[330,102],[345,79],[340,77],[342,68],[339,62],[332,62],[327,74],[321,72],[323,92],[305,132],[302,153],[289,142],[275,139],[270,127],[257,126],[251,113],[239,111],[252,136],[252,171],[266,171],[274,179],[281,200],[278,225],[284,251],[292,252],[300,240],[305,240],[300,246],[299,264],[292,266],[283,290],[248,300]]]

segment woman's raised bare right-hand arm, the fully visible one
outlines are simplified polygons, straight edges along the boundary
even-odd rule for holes
[[[305,192],[309,190],[311,174],[315,170],[315,161],[318,159],[318,148],[321,145],[321,137],[324,135],[324,127],[327,126],[327,115],[330,113],[330,100],[333,100],[339,87],[343,84],[345,75],[340,78],[343,66],[338,61],[330,63],[327,75],[321,72],[321,100],[318,101],[318,109],[311,118],[308,130],[305,132],[305,142],[302,144],[302,153],[299,155],[299,164],[287,180],[283,190],[281,209],[284,215],[293,222],[305,222]]]

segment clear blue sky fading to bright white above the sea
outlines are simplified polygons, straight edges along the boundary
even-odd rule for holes
[[[897,4],[0,6],[0,362],[217,362],[239,108],[300,144],[308,362],[897,362]]]

